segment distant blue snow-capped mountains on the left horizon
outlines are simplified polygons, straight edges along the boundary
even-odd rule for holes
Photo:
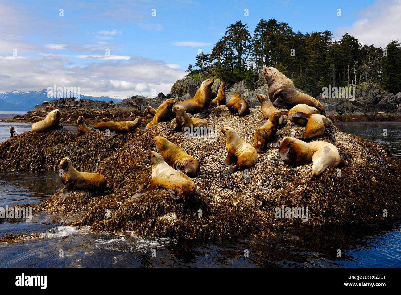
[[[70,96],[77,97],[77,94],[73,92],[67,91],[54,91],[52,94],[53,98],[47,97],[47,90],[44,89],[42,91],[30,91],[30,92],[22,92],[18,90],[13,90],[0,94],[0,110],[1,111],[28,111],[32,110],[34,106],[37,104],[41,104],[44,100],[50,101],[58,98],[67,98]],[[123,98],[110,98],[108,96],[86,96],[81,95],[81,99],[87,98],[90,100],[113,100],[115,102],[121,101]]]

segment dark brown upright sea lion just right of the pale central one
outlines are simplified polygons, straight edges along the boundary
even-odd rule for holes
[[[264,154],[267,151],[267,144],[269,142],[273,142],[275,146],[280,146],[275,135],[277,133],[278,124],[280,118],[282,118],[281,112],[274,112],[270,114],[269,120],[265,124],[263,124],[259,129],[255,131],[253,134],[253,141],[255,142],[255,150]]]

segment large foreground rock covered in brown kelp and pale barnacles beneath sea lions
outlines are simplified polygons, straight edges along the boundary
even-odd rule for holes
[[[331,167],[316,178],[311,173],[312,163],[291,167],[279,157],[278,148],[270,145],[267,153],[259,155],[257,163],[250,169],[252,183],[248,184],[239,172],[220,175],[227,169],[223,163],[227,151],[219,129],[230,126],[253,145],[253,134],[263,120],[260,108],[251,109],[250,114],[244,117],[233,116],[227,106],[209,111],[207,120],[216,133],[206,138],[184,138],[180,132],[168,131],[174,120],[128,136],[105,139],[104,134],[89,134],[82,139],[75,138],[82,144],[86,142],[95,146],[106,145],[106,142],[111,144],[108,140],[115,140],[116,146],[110,150],[108,157],[101,150],[101,157],[93,161],[96,166],[93,171],[107,179],[105,194],[82,199],[80,195],[83,192],[76,191],[62,201],[58,192],[36,206],[36,212],[69,216],[72,220],[70,225],[89,226],[95,232],[130,230],[142,235],[192,239],[271,236],[277,230],[292,226],[377,221],[384,218],[383,210],[387,210],[389,216],[401,214],[401,160],[393,157],[384,146],[344,134],[335,127],[329,128],[327,132],[337,139],[336,146],[342,158],[349,163],[347,167]],[[297,127],[292,131],[288,123],[277,131],[277,138],[281,142],[292,132],[298,137],[303,130]],[[51,132],[47,136],[32,133],[25,138],[20,137],[21,141],[26,140],[26,144],[16,145],[18,148],[11,149],[10,153],[28,152],[29,140],[36,140],[43,144],[42,153],[45,154],[46,149],[52,151],[59,148],[52,146],[49,149],[46,141],[55,142],[59,136],[67,136],[69,142],[65,140],[63,143],[65,155],[59,157],[70,157],[75,167],[87,165],[88,159],[98,154],[85,146],[79,157],[71,155],[73,147],[79,146],[77,142],[74,143],[65,132],[62,135],[56,133]],[[147,149],[157,151],[152,140],[152,136],[156,135],[164,136],[200,163],[201,172],[193,181],[202,195],[195,205],[176,203],[164,189],[131,199],[150,183],[151,171],[145,152]],[[314,140],[329,141],[324,136]],[[5,145],[12,147],[10,140],[0,144],[1,159],[5,159]],[[40,149],[40,145],[36,149]],[[96,155],[88,156],[89,153]],[[10,158],[5,160],[3,167],[12,167],[7,164]],[[20,167],[29,166],[29,157],[22,157],[20,161]],[[308,220],[275,218],[275,209],[282,205],[308,207]]]

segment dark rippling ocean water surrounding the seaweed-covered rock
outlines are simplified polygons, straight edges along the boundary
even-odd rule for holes
[[[4,115],[0,115],[0,120]],[[13,123],[14,124],[14,123]],[[17,125],[21,124],[21,125]],[[13,125],[18,133],[30,124]],[[28,126],[29,125],[29,126]],[[336,123],[340,130],[387,146],[401,157],[400,122]],[[10,123],[0,122],[0,138]],[[71,128],[76,126],[71,124]],[[383,136],[387,129],[387,136]],[[72,130],[73,131],[73,130]],[[4,134],[4,135],[3,135]],[[7,136],[6,136],[7,135]],[[60,190],[57,172],[0,172],[0,207],[41,203]],[[33,214],[31,221],[0,220],[0,236],[40,238],[0,244],[0,267],[400,267],[401,218],[359,226],[294,228],[274,240],[240,238],[196,242],[124,234],[93,234]],[[245,257],[245,250],[249,256]],[[341,257],[337,257],[341,250]]]

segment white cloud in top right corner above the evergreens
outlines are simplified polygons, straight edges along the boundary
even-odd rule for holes
[[[348,27],[334,31],[335,39],[348,33],[362,45],[386,47],[391,40],[401,41],[401,0],[382,0],[360,12],[360,17]]]

